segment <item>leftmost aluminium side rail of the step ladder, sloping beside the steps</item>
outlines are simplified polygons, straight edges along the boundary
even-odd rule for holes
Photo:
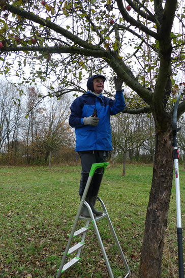
[[[86,183],[86,186],[85,186],[85,190],[83,192],[83,196],[81,198],[81,202],[80,202],[80,205],[79,205],[79,208],[78,208],[78,212],[76,214],[76,218],[75,218],[75,221],[74,221],[74,224],[73,224],[73,228],[71,230],[71,234],[70,234],[70,237],[69,237],[69,240],[68,240],[68,243],[66,245],[66,250],[64,252],[64,255],[63,255],[63,259],[61,260],[61,263],[60,263],[60,266],[59,266],[59,269],[58,269],[58,273],[57,273],[57,278],[60,277],[61,275],[61,270],[63,269],[63,266],[64,266],[64,263],[65,263],[65,260],[66,260],[66,257],[67,257],[67,254],[68,254],[68,251],[70,249],[70,245],[71,245],[71,241],[73,239],[73,235],[74,235],[74,232],[75,232],[75,229],[76,229],[76,226],[77,226],[77,223],[78,223],[78,220],[79,220],[79,216],[80,216],[80,212],[81,212],[81,209],[82,209],[82,205],[84,203],[84,200],[86,198],[86,195],[87,195],[87,191],[88,191],[88,188],[90,186],[90,182],[92,180],[93,176],[88,176],[88,179],[87,179],[87,183]]]

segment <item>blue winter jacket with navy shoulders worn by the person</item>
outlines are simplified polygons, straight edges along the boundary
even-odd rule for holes
[[[90,91],[74,100],[71,105],[69,124],[75,128],[76,151],[112,150],[110,115],[124,111],[125,100],[121,91],[116,91],[115,100],[95,96]],[[93,115],[97,109],[98,126],[83,124],[83,118]]]

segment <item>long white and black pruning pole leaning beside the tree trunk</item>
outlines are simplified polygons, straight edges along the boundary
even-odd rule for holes
[[[177,128],[177,110],[178,104],[180,100],[182,90],[179,91],[174,111],[173,111],[173,153],[174,153],[174,168],[175,168],[175,192],[176,192],[176,210],[177,210],[177,241],[178,241],[178,270],[179,270],[179,278],[184,278],[183,275],[183,249],[182,249],[182,226],[181,226],[181,211],[180,211],[180,186],[179,186],[179,171],[178,171],[178,159],[179,159],[179,151],[177,148],[177,139],[176,134],[180,130]]]

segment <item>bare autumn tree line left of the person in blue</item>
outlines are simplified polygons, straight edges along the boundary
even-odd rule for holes
[[[48,165],[76,159],[70,97],[40,99],[35,87],[0,86],[0,165]]]

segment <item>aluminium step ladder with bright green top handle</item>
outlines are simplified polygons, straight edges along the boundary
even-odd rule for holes
[[[88,180],[87,180],[87,183],[86,183],[86,186],[85,186],[85,190],[84,190],[83,196],[81,198],[81,202],[80,202],[80,205],[79,205],[79,208],[78,208],[78,212],[77,212],[74,224],[73,224],[73,228],[72,228],[71,234],[69,236],[68,243],[66,245],[66,250],[63,253],[64,255],[63,255],[63,258],[62,258],[61,263],[60,263],[60,267],[59,267],[58,272],[57,272],[57,276],[56,276],[57,278],[59,278],[64,271],[66,271],[71,266],[73,266],[73,265],[75,265],[76,263],[79,262],[80,254],[81,254],[83,245],[85,244],[85,237],[86,237],[87,231],[89,229],[89,224],[90,223],[92,223],[93,226],[94,226],[94,229],[95,229],[95,232],[96,232],[99,244],[100,244],[101,251],[103,253],[103,257],[104,257],[104,260],[105,260],[105,263],[106,263],[109,275],[110,275],[111,278],[114,278],[113,273],[112,273],[112,269],[110,267],[110,264],[109,264],[109,261],[108,261],[108,258],[107,258],[107,254],[105,252],[104,245],[103,245],[103,242],[102,242],[102,239],[101,239],[101,236],[100,236],[97,224],[96,224],[97,221],[100,221],[103,218],[106,218],[107,221],[108,221],[108,224],[109,224],[110,230],[112,232],[112,235],[114,237],[114,240],[116,242],[118,251],[119,251],[119,253],[121,255],[122,260],[124,261],[124,265],[125,265],[126,270],[127,270],[127,274],[125,275],[125,278],[129,277],[130,269],[129,269],[129,266],[128,266],[127,261],[125,259],[124,253],[122,252],[121,246],[120,246],[119,241],[117,239],[117,236],[116,236],[116,233],[115,233],[114,228],[112,226],[112,223],[110,221],[109,214],[107,212],[105,204],[103,203],[103,201],[99,197],[97,197],[97,199],[100,201],[100,203],[102,205],[103,214],[100,215],[99,217],[94,217],[93,211],[91,210],[89,204],[85,201],[85,198],[86,198],[86,195],[87,195],[87,192],[88,192],[88,188],[90,186],[90,182],[91,182],[91,180],[93,178],[93,175],[94,175],[95,171],[98,168],[104,168],[104,172],[105,172],[105,169],[106,169],[107,165],[109,165],[109,163],[108,162],[104,162],[104,163],[94,163],[91,166],[90,173],[89,173],[89,176],[88,176]],[[81,212],[83,204],[86,205],[86,207],[87,207],[87,209],[89,211],[89,214],[90,214],[90,218],[82,217],[80,215],[80,212]],[[85,224],[84,227],[82,227],[81,229],[76,231],[76,226],[77,226],[77,223],[78,223],[79,220],[85,220],[86,224]],[[70,248],[72,240],[74,238],[76,238],[77,236],[81,236],[80,242]],[[75,253],[77,251],[78,251],[77,256],[74,257],[71,261],[69,261],[68,263],[65,264],[67,256],[69,256],[69,255],[71,255],[71,254],[73,254],[73,253]]]

